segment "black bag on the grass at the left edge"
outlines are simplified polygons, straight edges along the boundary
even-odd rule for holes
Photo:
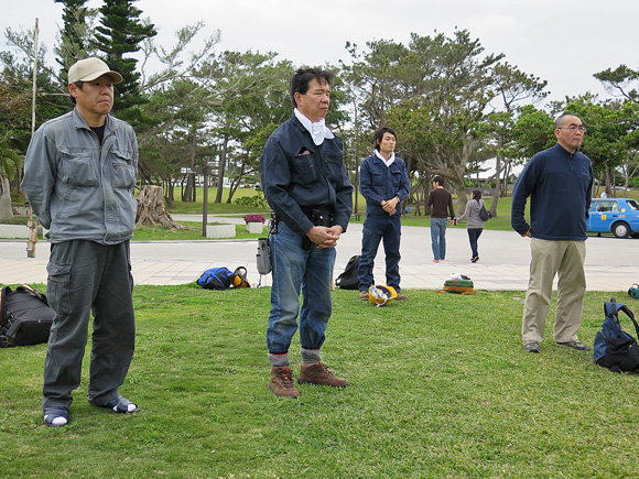
[[[46,296],[37,290],[4,286],[0,291],[0,347],[47,342],[54,316]]]

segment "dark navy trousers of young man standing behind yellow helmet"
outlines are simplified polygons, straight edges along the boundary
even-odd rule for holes
[[[396,215],[397,218],[394,217]],[[379,242],[383,240],[386,254],[386,284],[392,286],[398,293],[400,290],[400,238],[401,221],[399,214],[393,216],[367,216],[364,221],[361,235],[361,255],[359,258],[359,291],[368,291],[373,284],[372,266],[379,249]]]

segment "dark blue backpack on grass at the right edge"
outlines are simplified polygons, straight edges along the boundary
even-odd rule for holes
[[[639,337],[639,325],[632,312],[624,303],[610,298],[604,303],[606,319],[595,336],[595,362],[613,372],[638,371],[639,347],[635,338],[621,329],[619,312],[624,312],[632,320]]]

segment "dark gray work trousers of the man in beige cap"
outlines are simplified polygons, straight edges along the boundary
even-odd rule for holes
[[[136,341],[129,241],[75,240],[51,246],[46,295],[56,312],[44,360],[43,407],[68,407],[80,384],[94,315],[88,400],[101,405],[119,395]]]

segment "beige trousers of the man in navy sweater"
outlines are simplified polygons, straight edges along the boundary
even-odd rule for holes
[[[521,324],[523,344],[541,342],[543,339],[555,274],[559,283],[553,339],[556,342],[577,340],[586,291],[585,241],[548,241],[533,238],[530,248],[530,281]]]

